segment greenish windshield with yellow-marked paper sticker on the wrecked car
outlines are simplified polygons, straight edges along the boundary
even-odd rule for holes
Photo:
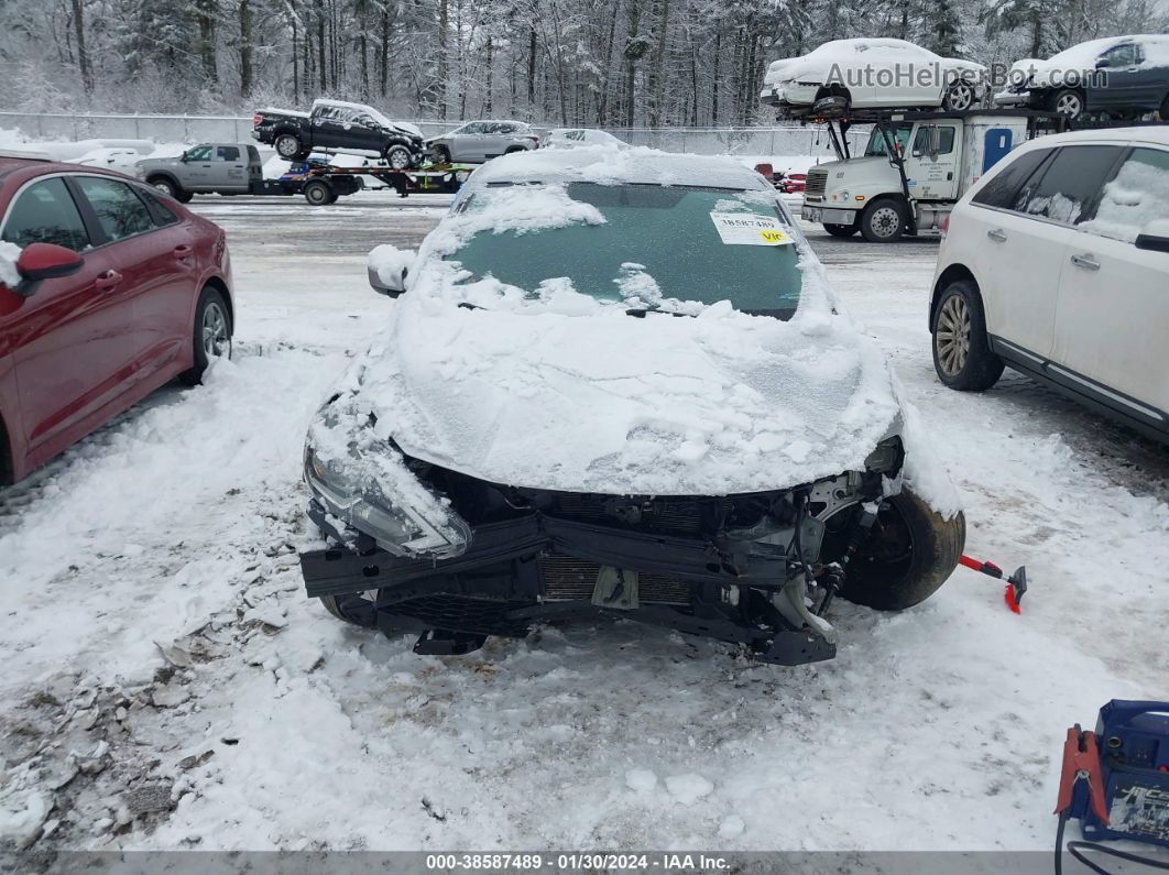
[[[459,211],[480,208],[493,190],[476,192]],[[592,182],[569,183],[566,192],[596,207],[604,222],[480,231],[449,259],[528,292],[567,277],[575,291],[603,300],[729,300],[750,313],[795,313],[800,252],[769,193]]]

